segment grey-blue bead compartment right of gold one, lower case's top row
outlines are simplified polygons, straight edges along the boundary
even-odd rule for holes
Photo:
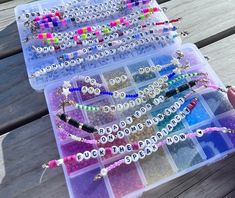
[[[156,74],[153,72],[150,72],[148,74],[142,74],[142,75],[139,74],[139,71],[138,71],[139,68],[149,67],[149,66],[150,64],[148,63],[148,61],[142,61],[142,62],[138,62],[132,65],[128,65],[130,73],[132,74],[132,77],[136,83],[141,83],[141,82],[145,82],[153,78],[156,78]]]

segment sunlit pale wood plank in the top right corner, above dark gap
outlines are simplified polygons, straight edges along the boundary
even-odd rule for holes
[[[185,42],[197,43],[235,26],[234,0],[172,0],[162,6],[169,19],[183,17],[180,28],[190,33]]]

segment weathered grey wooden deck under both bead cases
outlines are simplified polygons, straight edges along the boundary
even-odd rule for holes
[[[39,185],[40,165],[58,157],[42,93],[29,85],[14,20],[16,5],[0,0],[0,198],[68,197],[61,169]],[[160,1],[159,1],[160,2]],[[190,35],[225,84],[235,84],[235,1],[162,0],[169,18],[183,17]],[[153,189],[143,197],[235,197],[235,154]]]

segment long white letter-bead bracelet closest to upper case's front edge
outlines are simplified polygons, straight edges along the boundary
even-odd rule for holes
[[[55,71],[58,69],[64,69],[64,68],[67,68],[70,66],[74,67],[76,65],[81,65],[83,62],[90,62],[93,60],[98,60],[98,59],[101,59],[104,57],[112,56],[112,55],[116,54],[117,52],[122,53],[122,52],[125,52],[128,50],[131,50],[135,47],[142,46],[142,45],[149,44],[149,43],[156,42],[156,41],[158,42],[157,43],[158,45],[167,45],[168,43],[172,42],[172,40],[174,40],[177,36],[178,36],[178,34],[174,34],[171,36],[161,36],[161,37],[151,36],[149,38],[136,40],[135,42],[131,42],[130,44],[128,43],[126,45],[120,46],[117,49],[105,50],[104,52],[99,52],[94,55],[89,55],[86,58],[77,58],[76,60],[65,61],[65,62],[62,62],[59,64],[48,65],[48,66],[34,72],[30,78],[40,77],[42,75],[45,75],[49,72],[52,72],[52,71]]]

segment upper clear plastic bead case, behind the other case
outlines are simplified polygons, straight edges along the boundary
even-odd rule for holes
[[[69,1],[70,0],[43,0],[43,1],[32,2],[29,4],[25,4],[25,5],[20,5],[20,6],[17,6],[15,9],[16,21],[17,21],[17,26],[19,29],[19,34],[20,34],[23,54],[25,58],[27,73],[29,76],[29,81],[30,81],[31,86],[37,91],[42,91],[46,85],[58,79],[71,78],[77,73],[80,73],[86,70],[96,69],[99,67],[106,67],[113,63],[115,64],[119,63],[121,65],[126,60],[130,60],[133,57],[144,56],[144,55],[151,54],[151,53],[154,54],[156,53],[156,50],[161,50],[162,48],[166,48],[169,46],[171,46],[172,49],[175,49],[179,47],[181,44],[180,38],[174,39],[174,42],[168,43],[167,46],[162,46],[162,45],[157,44],[157,42],[155,42],[154,44],[143,45],[141,47],[138,47],[137,49],[134,49],[131,52],[127,51],[125,53],[118,53],[114,56],[108,56],[98,61],[91,61],[88,63],[76,65],[74,67],[59,69],[59,70],[47,73],[46,75],[43,75],[41,77],[30,78],[30,76],[35,71],[38,71],[39,69],[44,68],[51,64],[57,64],[58,63],[57,57],[62,55],[63,52],[53,52],[53,53],[48,53],[47,55],[43,54],[43,55],[38,56],[33,50],[32,45],[42,46],[41,41],[31,40],[29,42],[23,42],[26,38],[32,37],[33,34],[28,30],[28,28],[24,26],[22,13],[43,11],[44,8],[50,9],[50,8],[53,8],[55,5],[59,6]],[[77,6],[79,7],[82,5],[97,4],[97,3],[107,2],[107,1],[108,0],[82,0],[80,1],[80,3],[77,4]],[[146,4],[142,6],[142,8],[144,7],[159,7],[159,5],[157,4],[155,0],[152,0],[150,4]],[[136,11],[139,9],[140,8],[134,8],[133,10]],[[106,24],[107,22],[111,20],[118,19],[121,16],[125,16],[129,13],[130,13],[129,10],[125,10],[105,20],[92,21],[91,23],[83,23],[83,24],[76,25],[76,26],[69,26],[68,28],[57,27],[56,31],[57,32],[72,31],[72,30],[76,30],[76,28],[78,27],[85,27],[87,25],[94,25],[94,24],[102,25],[102,24]],[[151,16],[147,21],[157,22],[157,21],[166,21],[166,20],[167,20],[167,17],[165,16],[164,12],[157,12],[157,13],[154,13],[153,16]],[[169,27],[171,27],[171,24],[169,25]],[[53,32],[53,30],[51,31],[50,29],[47,29],[41,32]],[[80,49],[80,47],[67,49],[66,53],[73,52],[77,49]]]

